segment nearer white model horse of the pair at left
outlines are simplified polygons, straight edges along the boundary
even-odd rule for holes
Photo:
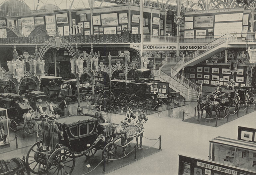
[[[25,113],[25,114],[23,114],[23,116],[22,116],[23,119],[24,119],[24,125],[23,125],[23,127],[25,128],[25,126],[28,125],[28,132],[31,133],[31,132],[30,132],[29,124],[34,125],[33,129],[34,129],[34,131],[36,131],[36,133],[37,133],[37,138],[39,138],[39,135],[38,135],[38,127],[40,126],[40,124],[41,124],[41,122],[42,122],[40,116],[43,115],[43,114],[44,114],[43,108],[42,108],[42,106],[39,105],[39,106],[37,107],[36,112],[34,112],[34,113]],[[40,128],[39,128],[39,130],[40,130]]]

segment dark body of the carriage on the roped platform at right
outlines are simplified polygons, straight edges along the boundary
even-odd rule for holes
[[[212,94],[211,94],[212,95]],[[234,90],[222,90],[221,94],[218,95],[218,98],[215,101],[219,102],[220,106],[232,106],[234,103],[235,91]],[[211,101],[214,101],[214,95],[211,97]]]

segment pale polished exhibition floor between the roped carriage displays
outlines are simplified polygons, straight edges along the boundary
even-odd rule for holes
[[[208,159],[209,140],[217,137],[237,138],[238,126],[255,128],[256,112],[247,114],[234,121],[226,123],[217,128],[204,125],[182,122],[182,114],[179,111],[191,112],[195,104],[176,108],[172,111],[164,111],[162,117],[157,114],[148,115],[149,120],[144,124],[144,136],[148,138],[158,138],[162,136],[162,151],[150,155],[144,159],[110,172],[111,175],[145,174],[145,175],[177,175],[178,174],[178,154]],[[123,120],[124,116],[109,114],[113,123]],[[12,131],[11,131],[12,132]],[[34,139],[31,138],[31,139]],[[135,140],[134,140],[135,141]],[[24,142],[26,142],[24,140]],[[143,138],[143,144],[151,146],[155,141]],[[25,144],[25,143],[24,143]],[[158,148],[159,144],[154,145]],[[29,147],[28,147],[29,148]],[[11,157],[22,157],[26,154],[27,147],[1,154],[1,159]],[[78,163],[78,162],[77,162]],[[84,162],[79,162],[85,166]],[[84,165],[83,165],[84,164]],[[81,172],[81,174],[86,172]]]

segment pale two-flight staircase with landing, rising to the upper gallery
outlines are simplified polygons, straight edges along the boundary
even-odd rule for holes
[[[186,97],[186,101],[196,101],[197,94],[201,93],[201,87],[184,77],[179,71],[182,67],[197,64],[226,49],[226,41],[228,41],[228,37],[227,34],[223,35],[204,45],[201,49],[179,59],[178,62],[168,61],[167,58],[165,58],[158,66],[156,66],[156,69],[154,70],[155,76],[158,76],[159,80],[169,82],[172,89],[180,92],[182,96]]]

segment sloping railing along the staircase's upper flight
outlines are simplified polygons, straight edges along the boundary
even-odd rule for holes
[[[188,61],[192,60],[193,58],[195,58],[196,56],[201,55],[202,53],[205,53],[205,52],[209,51],[210,49],[216,47],[217,45],[224,43],[226,41],[226,39],[227,39],[227,34],[222,35],[221,37],[213,40],[212,42],[210,42],[208,44],[205,44],[200,49],[195,50],[191,54],[189,54],[189,55],[185,56],[183,59],[181,59],[174,66],[173,69],[178,70],[184,62],[188,62]]]

